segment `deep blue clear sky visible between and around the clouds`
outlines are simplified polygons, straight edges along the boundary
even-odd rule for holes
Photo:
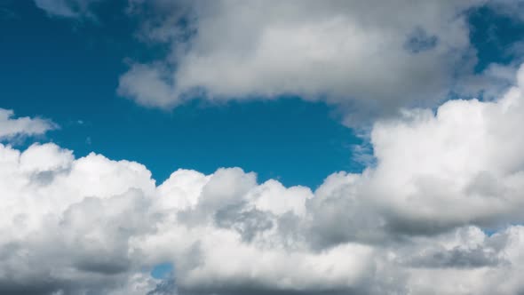
[[[322,102],[195,100],[165,110],[117,95],[126,60],[151,60],[165,50],[137,40],[138,21],[124,15],[124,5],[99,4],[97,20],[70,20],[50,18],[30,1],[4,1],[2,107],[52,118],[61,128],[47,140],[77,156],[94,151],[135,160],[159,181],[177,168],[240,166],[262,180],[316,187],[332,171],[361,171],[352,153],[362,140]],[[505,50],[524,36],[524,25],[488,8],[470,14],[475,70],[510,63],[515,54]]]

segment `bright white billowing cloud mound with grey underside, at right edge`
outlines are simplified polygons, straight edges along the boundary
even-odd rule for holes
[[[500,100],[451,100],[436,115],[410,110],[401,120],[377,123],[374,194],[387,194],[401,215],[420,219],[448,216],[460,223],[498,210],[516,213],[523,202],[524,140],[514,135],[524,124],[523,76],[520,68],[519,87]]]

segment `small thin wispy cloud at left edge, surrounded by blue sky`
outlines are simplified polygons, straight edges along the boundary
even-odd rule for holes
[[[45,132],[58,128],[57,124],[41,118],[28,116],[13,118],[14,112],[0,108],[0,140],[9,140],[20,136],[42,135]]]

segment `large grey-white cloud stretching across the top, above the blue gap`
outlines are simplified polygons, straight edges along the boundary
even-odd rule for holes
[[[484,75],[472,75],[476,60],[466,20],[468,10],[485,3],[135,0],[137,14],[153,9],[156,15],[145,20],[140,36],[170,45],[171,53],[131,65],[118,91],[160,108],[195,97],[286,94],[345,111],[356,105],[364,116],[433,107],[456,89],[457,76],[464,78],[457,91],[491,89]]]

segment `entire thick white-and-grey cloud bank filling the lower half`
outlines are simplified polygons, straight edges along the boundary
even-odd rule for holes
[[[240,168],[156,186],[139,163],[2,145],[0,293],[521,293],[517,80],[374,124],[376,166],[314,192]],[[166,261],[173,280],[148,275]]]

